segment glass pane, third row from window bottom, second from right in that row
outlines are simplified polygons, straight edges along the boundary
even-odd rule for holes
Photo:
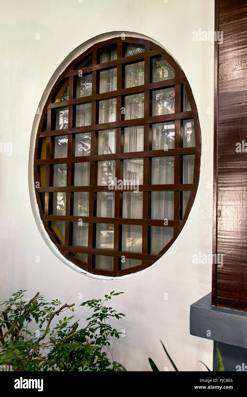
[[[151,219],[174,219],[174,192],[151,192]]]

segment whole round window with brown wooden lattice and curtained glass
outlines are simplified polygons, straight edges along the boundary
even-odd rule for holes
[[[200,156],[197,108],[173,58],[145,39],[95,44],[40,119],[34,185],[50,239],[92,274],[151,266],[188,218]]]

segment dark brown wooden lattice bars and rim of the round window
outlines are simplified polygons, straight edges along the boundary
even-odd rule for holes
[[[98,50],[102,47],[117,43],[117,59],[105,63],[99,61]],[[123,44],[143,44],[144,52],[131,56],[124,56]],[[92,66],[81,67],[88,62],[92,54]],[[152,83],[152,59],[162,56],[174,68],[174,79]],[[83,60],[85,60],[83,62]],[[124,66],[144,60],[144,85],[124,88]],[[80,65],[79,68],[78,65]],[[117,67],[117,90],[99,94],[99,73],[112,67]],[[76,79],[79,71],[82,75],[92,73],[92,95],[76,98]],[[61,89],[64,81],[69,79],[69,100],[55,102],[56,93]],[[174,113],[151,116],[152,114],[152,91],[175,87],[175,109]],[[183,89],[186,90],[190,102],[191,111],[183,111]],[[144,93],[144,117],[138,119],[124,120],[121,108],[124,106],[124,96],[130,94]],[[99,100],[117,98],[117,118],[115,122],[98,123],[98,103]],[[91,125],[75,127],[75,107],[79,104],[92,103]],[[67,129],[55,130],[54,111],[57,108],[67,106],[69,108],[69,121]],[[195,130],[195,146],[182,147],[183,120],[193,119]],[[175,142],[174,148],[164,150],[152,150],[152,123],[174,121]],[[123,128],[134,125],[144,125],[144,151],[143,152],[123,152]],[[116,153],[98,155],[98,131],[103,129],[116,129]],[[91,152],[90,156],[75,157],[75,134],[91,131]],[[53,138],[55,136],[68,135],[67,158],[52,158]],[[46,139],[46,158],[41,158],[41,142]],[[183,184],[182,181],[182,156],[194,154],[193,183]],[[174,184],[172,185],[151,185],[151,159],[152,157],[174,156]],[[139,185],[139,191],[143,192],[143,217],[142,219],[122,218],[123,191],[115,191],[115,217],[98,218],[96,216],[97,192],[109,191],[106,186],[97,186],[97,164],[102,160],[115,160],[115,177],[123,179],[123,160],[128,158],[144,159],[144,180],[143,185]],[[48,235],[59,251],[75,265],[92,274],[117,277],[138,272],[151,266],[156,262],[174,243],[190,213],[197,187],[199,183],[199,169],[201,158],[201,131],[199,118],[193,94],[182,69],[176,64],[173,58],[157,44],[146,40],[126,37],[109,39],[88,48],[83,54],[75,59],[60,75],[56,81],[42,115],[36,136],[36,146],[34,152],[34,183],[40,181],[40,166],[46,166],[46,185],[36,187],[36,199],[40,211],[40,217]],[[90,186],[75,187],[74,168],[76,162],[90,162]],[[53,187],[53,164],[67,164],[67,186]],[[52,193],[66,192],[66,214],[65,216],[52,215]],[[73,216],[73,192],[89,192],[89,216]],[[131,191],[128,190],[128,191]],[[151,219],[151,192],[152,191],[174,191],[174,220],[168,220],[168,225],[164,225],[163,220]],[[182,218],[182,192],[190,191],[188,204]],[[72,243],[73,224],[82,218],[82,222],[88,222],[88,247],[74,247]],[[56,233],[50,227],[51,221],[65,221],[65,243],[61,244]],[[96,249],[96,224],[114,224],[114,248],[113,250]],[[142,253],[122,251],[122,228],[121,225],[142,225]],[[174,235],[169,243],[157,255],[150,254],[150,231],[151,226],[173,227]],[[73,252],[84,252],[88,254],[88,263],[84,263],[71,256]],[[113,272],[94,268],[95,255],[113,256]],[[121,270],[121,256],[130,259],[142,260],[142,265]]]

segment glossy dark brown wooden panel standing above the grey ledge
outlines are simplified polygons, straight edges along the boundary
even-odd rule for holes
[[[223,266],[213,266],[212,304],[247,311],[247,153],[236,152],[247,142],[247,2],[217,0],[215,30],[213,252]]]

